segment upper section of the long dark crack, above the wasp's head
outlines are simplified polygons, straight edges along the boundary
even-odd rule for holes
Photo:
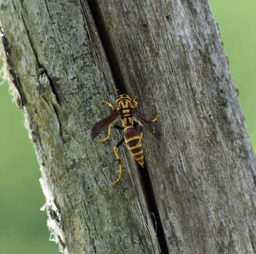
[[[113,75],[113,79],[116,83],[116,88],[118,88],[121,91],[121,93],[127,93],[124,78],[121,74],[121,69],[118,64],[118,59],[116,57],[114,47],[111,43],[108,30],[106,28],[106,25],[104,24],[104,20],[99,10],[97,1],[87,0],[87,2],[90,8],[90,12],[92,13],[94,22],[96,24],[97,30],[99,32],[99,37],[101,39],[102,46],[106,53],[106,57],[109,61],[109,66]]]

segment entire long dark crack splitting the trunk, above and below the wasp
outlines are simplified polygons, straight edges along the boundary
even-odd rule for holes
[[[121,69],[120,69],[120,66],[118,63],[118,59],[114,52],[113,45],[111,43],[111,39],[109,37],[108,30],[106,29],[106,25],[104,24],[104,20],[101,15],[101,12],[99,10],[97,1],[87,0],[87,2],[89,4],[90,12],[92,13],[92,17],[96,24],[97,30],[99,32],[99,37],[101,39],[102,46],[106,53],[106,57],[109,61],[109,66],[113,73],[113,78],[116,83],[116,88],[118,88],[121,91],[121,93],[126,93],[124,78],[121,75]],[[159,242],[161,252],[163,254],[169,254],[169,249],[167,246],[162,222],[160,220],[160,215],[159,215],[159,211],[157,208],[157,203],[155,201],[155,196],[154,196],[154,192],[153,192],[153,188],[152,188],[151,179],[148,174],[147,166],[145,165],[144,168],[140,167],[140,169],[141,169],[140,172],[142,175],[142,184],[144,185],[143,187],[145,188],[145,193],[147,195],[146,200],[148,203],[147,205],[148,205],[148,209],[150,212],[150,217],[151,217],[152,223],[154,225],[154,229],[155,229],[155,232],[157,235],[157,239]]]

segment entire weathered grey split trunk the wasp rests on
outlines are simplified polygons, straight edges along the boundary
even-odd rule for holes
[[[62,251],[256,253],[256,159],[207,1],[0,1],[0,17]],[[122,134],[89,133],[114,87],[160,114],[162,141],[145,132],[144,171],[120,149],[112,187]]]

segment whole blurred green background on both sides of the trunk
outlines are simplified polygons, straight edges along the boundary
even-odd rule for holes
[[[256,147],[256,1],[211,0],[230,60],[230,68]],[[12,103],[7,84],[0,86],[0,249],[3,254],[57,254],[49,242],[44,196],[34,148],[22,111]]]

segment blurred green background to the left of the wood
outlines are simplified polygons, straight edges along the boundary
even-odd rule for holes
[[[34,147],[8,90],[6,83],[0,86],[0,253],[57,254],[40,211],[45,199]]]

